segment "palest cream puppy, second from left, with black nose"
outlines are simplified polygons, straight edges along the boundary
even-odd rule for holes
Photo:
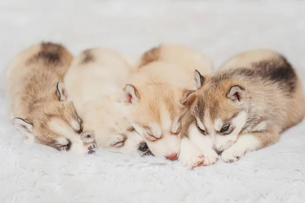
[[[67,72],[64,83],[84,129],[94,130],[98,147],[120,153],[149,154],[149,149],[125,118],[119,97],[131,71],[119,53],[88,49],[79,54]]]

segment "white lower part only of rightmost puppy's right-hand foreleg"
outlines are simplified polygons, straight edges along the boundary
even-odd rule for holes
[[[247,151],[257,149],[260,144],[260,141],[253,134],[241,134],[236,143],[221,154],[222,160],[225,162],[234,162]]]

